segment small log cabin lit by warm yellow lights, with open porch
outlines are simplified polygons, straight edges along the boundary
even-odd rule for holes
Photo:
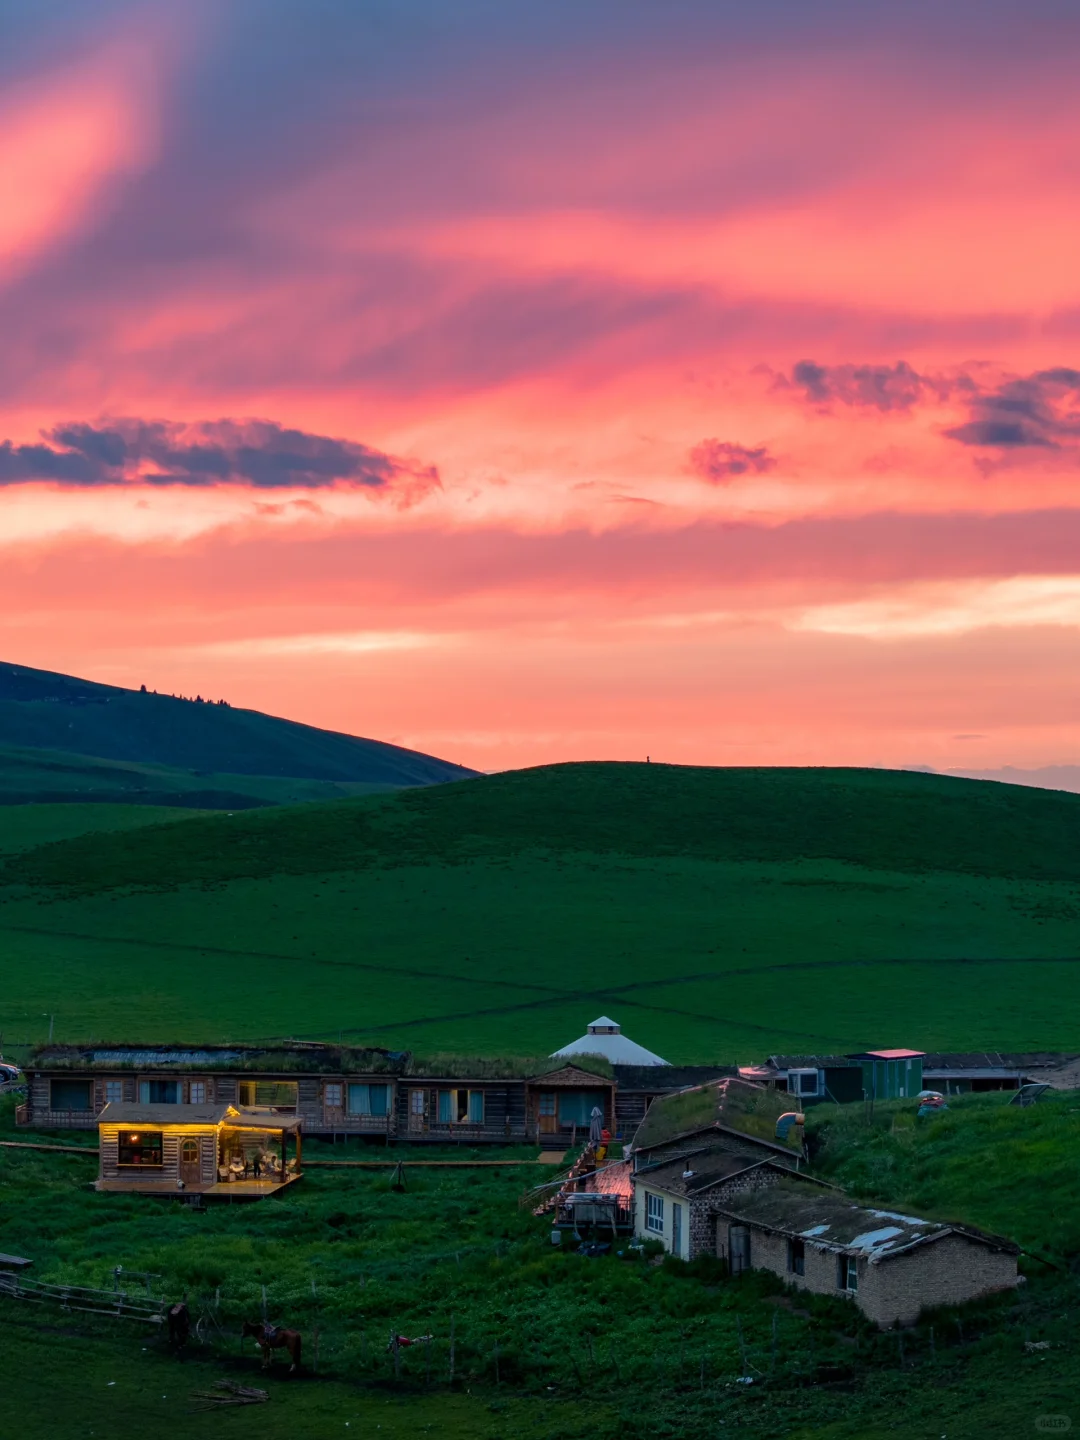
[[[107,1104],[96,1189],[258,1200],[301,1175],[301,1120],[233,1104]]]

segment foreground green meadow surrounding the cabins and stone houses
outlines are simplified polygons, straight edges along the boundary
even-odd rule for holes
[[[183,1440],[212,1426],[282,1440],[357,1426],[387,1440],[428,1426],[492,1440],[1030,1433],[1035,1416],[1068,1413],[1080,1395],[1080,1277],[1068,1261],[1080,1234],[1074,1210],[1058,1210],[1079,1115],[1080,1094],[1034,1112],[973,1097],[919,1123],[901,1104],[878,1107],[870,1126],[861,1106],[815,1112],[822,1176],[893,1207],[917,1200],[922,1212],[998,1228],[1008,1217],[1043,1257],[1024,1261],[1015,1295],[936,1312],[901,1342],[842,1302],[791,1299],[770,1276],[732,1282],[710,1261],[564,1253],[520,1204],[550,1175],[541,1166],[410,1168],[400,1192],[389,1169],[312,1168],[281,1200],[199,1214],[94,1194],[94,1156],[0,1149],[0,1248],[32,1256],[48,1280],[109,1287],[117,1264],[148,1272],[204,1318],[204,1342],[179,1362],[145,1328],[4,1302],[7,1413],[23,1440],[121,1428]],[[10,1102],[0,1129],[10,1130]],[[995,1175],[1021,1158],[1027,1187],[1002,1194]],[[239,1329],[262,1313],[264,1287],[269,1316],[304,1333],[305,1377],[272,1377],[266,1407],[192,1414],[192,1392],[215,1378],[261,1382]],[[399,1374],[392,1331],[433,1336],[402,1354]],[[737,1384],[743,1374],[755,1384]]]

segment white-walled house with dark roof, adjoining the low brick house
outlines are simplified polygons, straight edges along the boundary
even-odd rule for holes
[[[701,1138],[700,1138],[701,1139]],[[768,1189],[789,1178],[788,1156],[773,1158],[749,1145],[720,1148],[684,1145],[677,1155],[668,1146],[635,1156],[634,1233],[660,1240],[680,1260],[717,1254],[717,1210],[739,1204],[743,1195]],[[717,1138],[720,1143],[729,1138]],[[831,1189],[806,1176],[804,1184]]]

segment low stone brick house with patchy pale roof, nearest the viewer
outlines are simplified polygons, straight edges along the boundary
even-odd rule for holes
[[[772,1270],[801,1290],[851,1300],[883,1328],[1017,1284],[1012,1241],[857,1205],[806,1176],[719,1195],[710,1210],[716,1253],[732,1273]]]

